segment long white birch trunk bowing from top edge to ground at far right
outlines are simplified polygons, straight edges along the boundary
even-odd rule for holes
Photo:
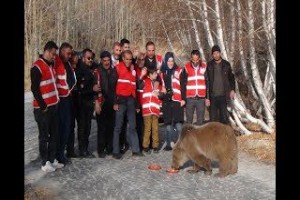
[[[250,64],[252,70],[252,78],[254,81],[254,86],[258,93],[259,99],[264,108],[264,114],[267,120],[267,124],[270,127],[274,127],[275,120],[271,112],[271,106],[268,102],[268,99],[265,96],[263,91],[263,86],[261,82],[261,78],[259,75],[259,71],[256,64],[256,52],[254,45],[254,16],[253,16],[253,0],[248,0],[248,17],[249,17],[249,47],[250,47]]]

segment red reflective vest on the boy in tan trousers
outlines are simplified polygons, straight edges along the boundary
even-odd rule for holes
[[[158,89],[154,90],[150,78],[145,79],[144,82],[145,82],[145,86],[142,95],[143,116],[156,115],[159,117],[161,100],[157,96],[153,95],[153,92],[160,91],[161,86],[159,86]]]

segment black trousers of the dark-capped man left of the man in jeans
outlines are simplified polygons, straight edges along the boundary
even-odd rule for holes
[[[98,136],[97,136],[97,151],[101,154],[106,150],[106,153],[112,153],[112,139],[115,125],[115,110],[113,105],[104,102],[100,115],[96,115]]]

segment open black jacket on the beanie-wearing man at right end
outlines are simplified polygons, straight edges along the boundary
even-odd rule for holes
[[[211,92],[213,89],[213,82],[214,82],[214,60],[211,60],[207,63],[207,69],[205,71],[206,75],[208,77],[208,80],[206,81],[206,94],[207,98],[211,98]],[[229,100],[229,94],[230,91],[235,91],[235,81],[234,81],[234,75],[231,70],[230,63],[224,59],[221,61],[222,65],[222,79],[223,79],[223,85],[224,85],[224,91],[226,94],[226,99]]]

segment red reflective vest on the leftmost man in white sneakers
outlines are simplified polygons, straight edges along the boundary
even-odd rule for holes
[[[40,91],[47,106],[55,105],[59,102],[58,91],[55,84],[55,70],[47,65],[43,59],[35,61],[32,67],[36,66],[41,72]],[[33,99],[33,107],[39,108],[38,102]]]

